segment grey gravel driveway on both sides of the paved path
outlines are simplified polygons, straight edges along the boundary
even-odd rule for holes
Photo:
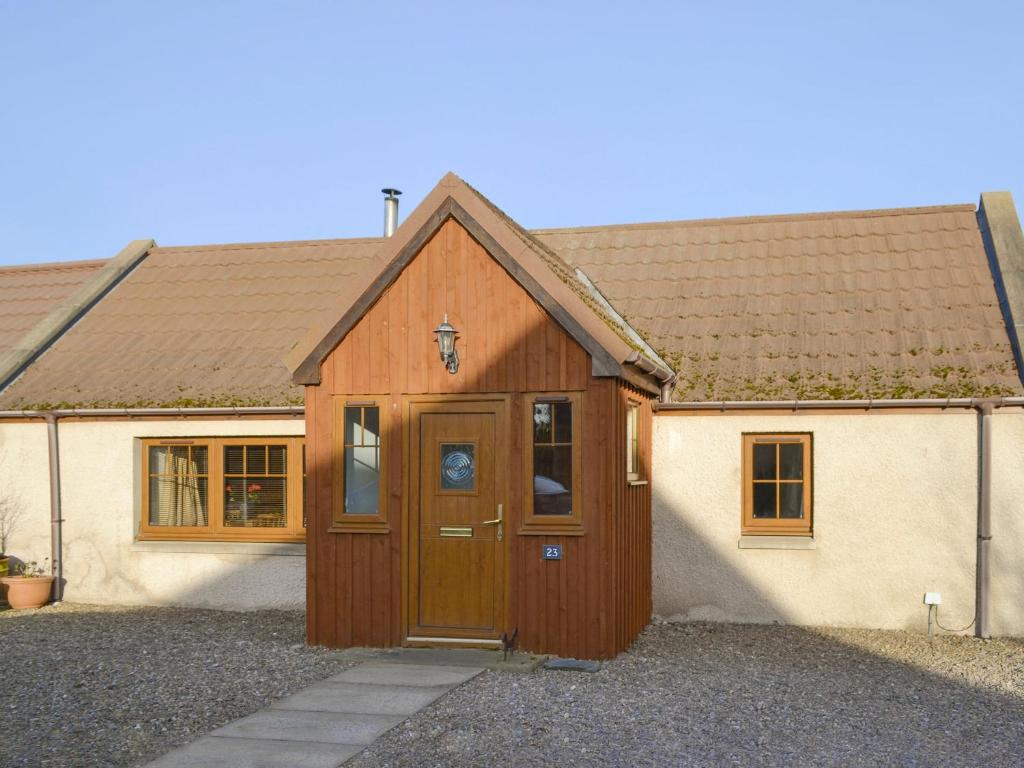
[[[348,666],[296,612],[0,612],[0,766],[133,766]],[[1024,642],[655,625],[594,675],[487,672],[352,762],[1024,766]]]

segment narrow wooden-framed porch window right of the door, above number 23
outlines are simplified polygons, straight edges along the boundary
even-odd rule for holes
[[[583,409],[578,392],[525,395],[523,534],[582,534]]]

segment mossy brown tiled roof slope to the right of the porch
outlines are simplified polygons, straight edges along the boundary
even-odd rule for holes
[[[678,400],[1022,392],[970,205],[534,234],[646,334]]]

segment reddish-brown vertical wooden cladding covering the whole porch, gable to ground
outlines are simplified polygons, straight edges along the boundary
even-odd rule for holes
[[[456,375],[438,359],[432,333],[445,312],[459,331]],[[632,401],[638,406],[637,465],[649,478],[648,394],[615,379],[591,377],[587,352],[450,220],[325,359],[321,385],[306,388],[311,642],[337,647],[418,642],[415,633],[425,628],[411,621],[410,595],[403,590],[415,532],[410,523],[420,514],[419,506],[412,509],[411,483],[433,482],[433,474],[424,479],[422,467],[411,466],[414,420],[424,413],[422,403],[495,397],[507,402],[496,415],[506,420],[508,435],[498,457],[507,486],[500,500],[507,581],[501,626],[486,636],[518,629],[523,650],[608,658],[629,647],[647,624],[650,495],[648,486],[628,481],[626,421]],[[573,467],[579,468],[572,480],[578,522],[565,527],[561,519],[561,528],[540,531],[532,524],[537,515],[527,521],[532,410],[539,398],[570,403]],[[377,530],[346,530],[337,522],[343,477],[336,457],[344,444],[337,434],[343,425],[338,413],[345,402],[381,409],[380,493],[387,526]],[[467,444],[474,439],[456,437]],[[456,500],[458,494],[477,493],[449,490]],[[479,528],[467,521],[445,520],[444,526]],[[472,541],[443,539],[456,549]],[[542,559],[545,545],[561,545],[562,559]]]

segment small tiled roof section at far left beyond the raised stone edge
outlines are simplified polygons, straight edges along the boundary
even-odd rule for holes
[[[0,267],[0,355],[104,263],[101,259]]]

